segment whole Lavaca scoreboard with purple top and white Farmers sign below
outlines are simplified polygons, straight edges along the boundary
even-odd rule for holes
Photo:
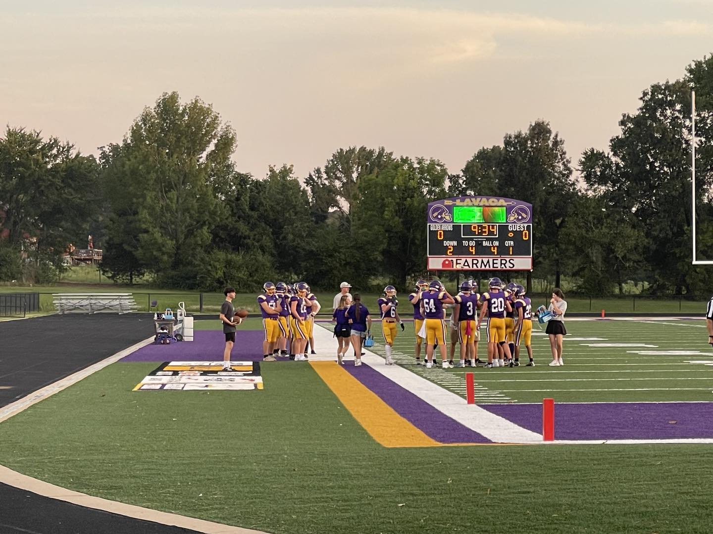
[[[429,271],[530,271],[533,207],[502,197],[434,200],[428,213]]]

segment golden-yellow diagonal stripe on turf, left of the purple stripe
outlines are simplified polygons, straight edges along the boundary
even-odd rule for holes
[[[441,447],[406,421],[388,404],[335,361],[310,361],[312,369],[329,386],[356,421],[384,447]]]

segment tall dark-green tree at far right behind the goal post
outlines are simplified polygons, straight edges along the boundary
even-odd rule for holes
[[[705,79],[712,66],[696,63],[689,68]],[[621,133],[610,141],[610,153],[589,150],[580,162],[585,182],[605,195],[611,205],[627,214],[630,225],[646,235],[644,252],[653,273],[652,290],[692,292],[699,277],[691,264],[690,202],[690,85],[691,79],[655,83],[642,92],[637,113],[622,115]],[[709,135],[706,121],[701,129]],[[709,145],[704,140],[704,146]],[[706,153],[708,156],[706,156]],[[704,150],[697,197],[710,213],[712,185],[710,151]],[[625,222],[625,221],[622,221]],[[704,229],[704,226],[702,227]],[[710,245],[710,239],[702,239]]]

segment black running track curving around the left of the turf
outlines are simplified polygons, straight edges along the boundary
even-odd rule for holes
[[[153,334],[148,314],[71,314],[0,322],[0,409]],[[1,446],[1,444],[0,444]],[[0,483],[0,534],[195,533]]]

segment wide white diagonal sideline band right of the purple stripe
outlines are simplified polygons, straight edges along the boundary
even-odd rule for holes
[[[314,341],[319,350],[319,357],[309,356],[309,359],[337,360],[337,339],[332,338],[332,332],[327,328],[329,326],[314,329]],[[482,409],[480,406],[468,405],[466,399],[443,389],[438,384],[434,384],[401,366],[384,365],[384,359],[381,356],[377,356],[366,349],[364,352],[366,354],[361,357],[361,361],[364,361],[365,364],[369,364],[375,371],[404,387],[404,389],[411,391],[419,399],[426,401],[446,416],[489,440],[496,443],[543,442],[540,434],[518,426],[501,416],[491,414],[491,412]],[[325,353],[329,355],[325,355]],[[347,352],[348,358],[349,354],[354,354],[354,351],[349,350]]]

